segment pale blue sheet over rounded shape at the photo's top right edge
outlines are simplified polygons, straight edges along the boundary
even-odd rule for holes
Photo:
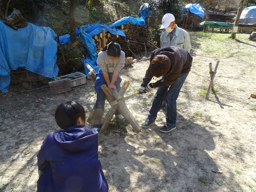
[[[244,8],[239,23],[256,24],[256,5]]]

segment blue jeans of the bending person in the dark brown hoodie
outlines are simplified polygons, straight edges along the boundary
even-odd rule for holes
[[[179,97],[180,89],[182,85],[184,84],[186,78],[188,76],[188,73],[181,73],[177,81],[168,87],[159,87],[156,92],[156,96],[153,100],[152,107],[148,112],[148,116],[150,116],[152,119],[156,119],[157,113],[161,108],[164,96],[166,91],[166,104],[167,104],[167,114],[166,114],[166,124],[167,125],[176,125],[176,119],[177,119],[177,102],[176,100]]]

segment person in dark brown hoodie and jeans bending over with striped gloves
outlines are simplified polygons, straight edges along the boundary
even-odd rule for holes
[[[185,82],[192,65],[192,56],[180,47],[162,47],[151,53],[150,64],[138,91],[146,93],[158,87],[152,107],[148,112],[147,120],[141,125],[144,128],[155,124],[157,113],[167,92],[166,124],[160,132],[170,132],[176,128],[177,102],[180,89]],[[155,83],[150,83],[153,76],[162,78]]]

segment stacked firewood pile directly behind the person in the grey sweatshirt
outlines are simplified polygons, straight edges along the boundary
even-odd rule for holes
[[[148,26],[138,26],[127,23],[117,28],[120,28],[124,32],[126,35],[125,39],[124,36],[113,35],[109,32],[105,33],[105,37],[102,33],[92,37],[96,44],[97,53],[103,48],[103,37],[105,38],[106,44],[112,42],[120,44],[125,55],[133,55],[136,54],[136,52],[145,51],[145,49],[148,50],[150,45],[149,41],[151,40]]]

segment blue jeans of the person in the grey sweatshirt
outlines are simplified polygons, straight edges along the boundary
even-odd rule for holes
[[[111,76],[111,79],[112,79],[112,76]],[[108,87],[108,84],[106,82],[104,84]],[[120,82],[116,81],[115,85],[116,85],[117,92],[119,92],[121,89]],[[105,100],[106,100],[106,94],[100,88],[97,92],[96,105],[94,109],[93,128],[101,128],[101,118],[104,113]],[[116,110],[115,115],[118,115],[118,114],[119,112],[118,110]]]

